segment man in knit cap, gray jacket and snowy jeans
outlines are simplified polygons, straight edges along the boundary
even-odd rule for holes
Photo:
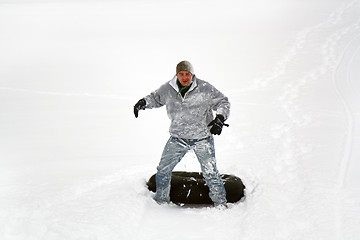
[[[229,117],[228,98],[210,83],[196,78],[188,61],[176,66],[176,75],[134,106],[139,110],[166,106],[171,120],[170,139],[165,145],[156,174],[155,200],[170,202],[171,172],[189,150],[194,150],[215,206],[226,206],[224,183],[216,167],[214,138]],[[217,115],[214,119],[213,111]]]

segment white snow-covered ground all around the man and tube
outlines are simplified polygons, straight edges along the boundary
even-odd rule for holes
[[[184,59],[232,103],[228,210],[145,187],[169,121],[132,107]],[[0,0],[0,239],[360,239],[359,62],[359,1]]]

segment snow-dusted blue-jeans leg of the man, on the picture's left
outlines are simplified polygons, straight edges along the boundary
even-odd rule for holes
[[[156,173],[155,200],[157,202],[170,202],[171,172],[188,150],[188,144],[178,138],[170,137],[166,143]]]

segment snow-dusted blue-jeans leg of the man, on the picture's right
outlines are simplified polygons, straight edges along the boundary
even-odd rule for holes
[[[214,138],[212,136],[194,144],[195,154],[200,162],[209,196],[215,205],[226,204],[226,191],[220,173],[216,167]]]

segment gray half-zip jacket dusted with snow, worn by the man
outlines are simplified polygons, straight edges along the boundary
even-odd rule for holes
[[[145,108],[166,105],[171,120],[170,135],[178,138],[201,139],[211,135],[207,125],[213,120],[213,111],[225,117],[230,114],[228,98],[210,83],[193,76],[190,89],[182,97],[175,76],[159,89],[146,96]]]

